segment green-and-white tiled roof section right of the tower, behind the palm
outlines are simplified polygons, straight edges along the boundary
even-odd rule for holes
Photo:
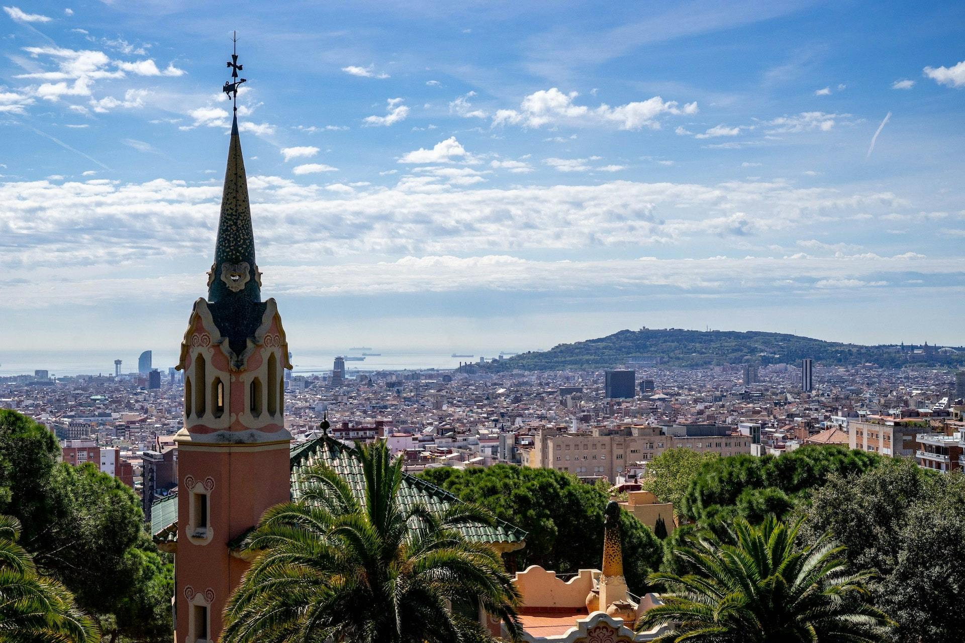
[[[318,464],[325,464],[335,469],[348,481],[355,496],[359,500],[364,500],[365,482],[362,463],[359,462],[355,449],[327,437],[295,444],[291,447],[292,499],[297,500],[300,495],[301,473],[305,469]],[[404,509],[421,503],[429,509],[437,511],[462,502],[458,497],[444,489],[409,473],[402,473],[400,501]],[[460,531],[468,540],[480,543],[519,543],[521,546],[526,540],[525,531],[504,521],[497,521],[493,526],[466,525],[460,527]]]

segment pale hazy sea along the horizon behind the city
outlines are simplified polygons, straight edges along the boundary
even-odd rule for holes
[[[472,355],[473,357],[454,358],[453,353],[458,355]],[[370,355],[363,356],[362,353]],[[380,349],[372,347],[372,350],[337,350],[320,349],[317,351],[306,351],[304,353],[293,353],[291,363],[294,366],[294,374],[309,375],[312,373],[331,372],[333,362],[337,356],[342,357],[365,357],[364,361],[346,361],[345,371],[368,372],[375,370],[426,370],[431,368],[452,369],[459,365],[459,362],[478,362],[481,357],[491,360],[499,356],[497,350],[450,350],[449,352],[431,352],[418,350],[402,349]],[[505,356],[511,352],[504,351]],[[0,376],[33,374],[36,370],[45,370],[51,376],[69,375],[96,375],[114,373],[114,361],[121,360],[121,372],[132,373],[137,371],[137,359],[139,352],[130,350],[107,351],[52,351],[52,350],[4,350],[0,348]],[[152,350],[152,367],[161,372],[167,372],[168,368],[178,363],[178,353],[176,351]]]

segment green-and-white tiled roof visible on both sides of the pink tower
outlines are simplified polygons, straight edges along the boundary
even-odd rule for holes
[[[355,496],[359,500],[364,500],[365,483],[363,481],[362,464],[358,460],[355,449],[349,448],[332,438],[323,437],[310,442],[293,444],[290,455],[291,499],[297,500],[300,496],[302,473],[312,466],[325,464],[338,471],[348,481]],[[400,500],[402,507],[405,509],[421,503],[429,509],[438,511],[462,502],[446,490],[409,473],[402,474]],[[526,541],[525,531],[505,521],[497,521],[493,526],[466,525],[460,527],[460,531],[467,539],[474,542],[515,544],[510,549],[518,549]],[[154,501],[151,507],[151,533],[155,543],[176,542],[178,540],[177,494]]]

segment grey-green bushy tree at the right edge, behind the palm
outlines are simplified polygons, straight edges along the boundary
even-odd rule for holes
[[[813,494],[802,530],[830,530],[853,566],[874,569],[874,603],[901,643],[965,640],[965,476],[887,459],[861,475],[834,475]]]

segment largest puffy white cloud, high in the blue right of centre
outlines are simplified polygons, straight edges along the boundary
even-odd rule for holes
[[[493,116],[493,126],[522,125],[542,127],[543,125],[610,125],[619,129],[640,129],[649,127],[659,129],[657,117],[663,114],[696,114],[697,103],[688,103],[682,108],[676,101],[664,101],[660,96],[647,100],[630,102],[617,107],[602,103],[595,108],[577,105],[573,102],[579,94],[564,94],[557,88],[540,90],[523,98],[518,110],[501,109]]]

